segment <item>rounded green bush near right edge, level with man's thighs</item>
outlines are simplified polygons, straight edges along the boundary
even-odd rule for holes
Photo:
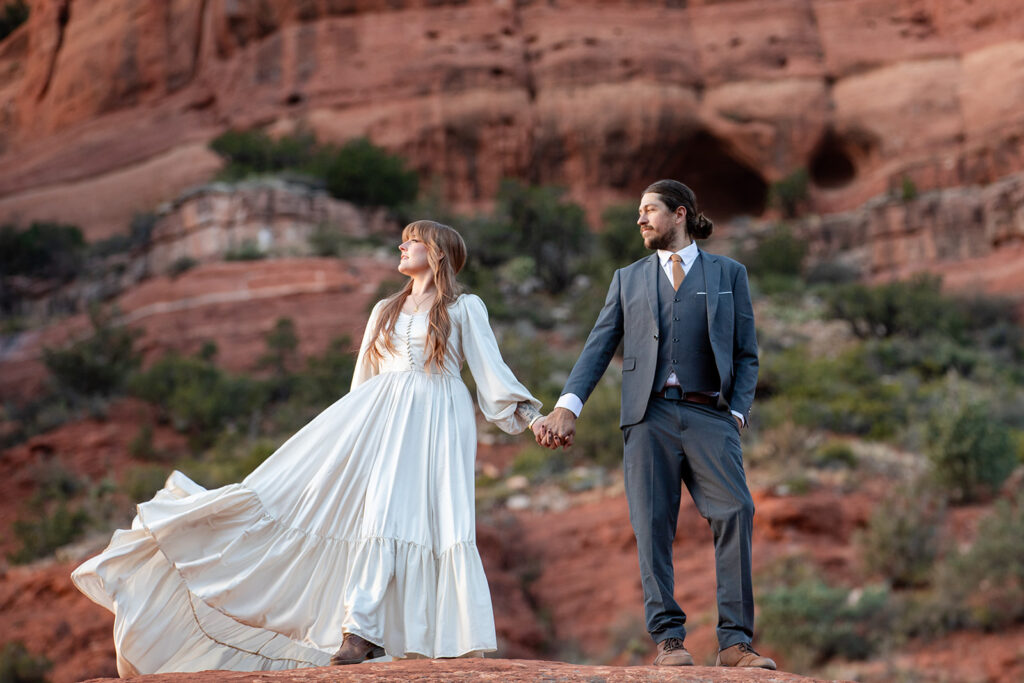
[[[991,494],[1017,465],[1010,428],[984,403],[936,416],[928,456],[935,480],[955,503]]]

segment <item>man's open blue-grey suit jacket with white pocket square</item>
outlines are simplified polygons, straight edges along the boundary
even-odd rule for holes
[[[700,252],[708,297],[708,333],[722,379],[718,407],[750,415],[758,381],[758,341],[754,307],[742,264]],[[620,427],[643,420],[655,390],[657,360],[657,279],[665,278],[657,253],[615,270],[611,287],[587,343],[562,393],[574,393],[584,402],[623,346],[623,407]]]

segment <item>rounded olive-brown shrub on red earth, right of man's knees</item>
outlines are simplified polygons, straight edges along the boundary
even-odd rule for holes
[[[928,584],[944,518],[944,501],[934,490],[916,485],[890,492],[857,538],[865,567],[894,588]]]

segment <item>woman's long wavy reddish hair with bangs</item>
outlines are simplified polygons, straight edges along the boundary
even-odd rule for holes
[[[456,281],[456,274],[466,265],[466,243],[455,228],[433,220],[417,220],[407,225],[401,231],[401,241],[414,238],[427,247],[427,263],[434,273],[434,287],[437,288],[434,302],[430,306],[426,366],[428,369],[433,366],[440,370],[444,367],[447,338],[452,332],[452,316],[449,315],[447,307],[462,294],[462,285]],[[384,300],[373,332],[375,341],[367,351],[370,360],[378,362],[383,359],[385,351],[397,351],[391,341],[391,334],[398,322],[398,313],[412,291],[413,279],[410,278],[404,287]]]

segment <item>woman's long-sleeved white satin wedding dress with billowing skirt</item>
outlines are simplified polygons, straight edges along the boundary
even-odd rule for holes
[[[504,431],[525,429],[520,401],[540,402],[502,360],[478,297],[449,309],[442,372],[424,368],[426,312],[401,313],[397,353],[367,360],[380,308],[347,395],[242,483],[207,490],[172,473],[131,529],[75,569],[115,614],[122,676],[326,666],[345,632],[391,656],[496,648],[463,359]]]

